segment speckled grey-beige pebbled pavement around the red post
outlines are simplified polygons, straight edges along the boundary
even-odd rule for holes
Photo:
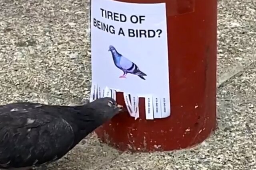
[[[0,104],[79,104],[90,88],[86,0],[0,1]],[[219,0],[218,129],[202,145],[119,153],[92,135],[52,170],[256,169],[256,1]]]

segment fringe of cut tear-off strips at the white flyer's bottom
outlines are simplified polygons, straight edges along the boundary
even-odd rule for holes
[[[90,92],[90,102],[104,97],[110,97],[116,100],[116,92],[121,92],[119,90],[110,89],[108,87],[100,87],[98,84],[92,82],[91,92]],[[170,116],[170,106],[166,105],[165,98],[159,98],[152,95],[146,96],[136,96],[133,94],[128,94],[123,92],[124,102],[127,110],[131,117],[138,119],[140,117],[139,113],[139,98],[145,98],[145,112],[146,119],[161,119]]]

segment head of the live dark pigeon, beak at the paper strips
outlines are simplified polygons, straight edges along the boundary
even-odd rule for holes
[[[103,122],[112,119],[114,115],[122,111],[122,106],[118,105],[112,98],[96,99],[93,102],[88,103],[87,106],[93,109],[93,114]]]

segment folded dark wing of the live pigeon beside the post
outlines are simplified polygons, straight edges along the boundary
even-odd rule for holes
[[[74,147],[72,127],[64,119],[51,115],[49,107],[44,107],[0,106],[0,168],[51,162]]]

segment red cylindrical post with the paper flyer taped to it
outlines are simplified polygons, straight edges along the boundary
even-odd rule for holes
[[[171,116],[140,119],[120,114],[96,129],[102,141],[120,150],[156,151],[192,147],[216,128],[217,0],[118,0],[166,2]],[[124,104],[121,93],[119,104]]]

